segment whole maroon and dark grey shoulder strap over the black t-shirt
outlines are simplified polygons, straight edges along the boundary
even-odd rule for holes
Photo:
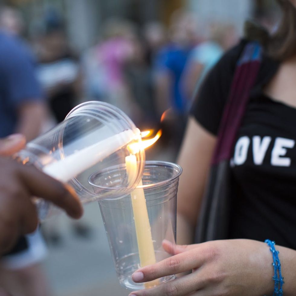
[[[198,243],[228,238],[231,190],[229,159],[259,72],[261,54],[258,43],[247,43],[237,62],[199,215],[195,236]]]

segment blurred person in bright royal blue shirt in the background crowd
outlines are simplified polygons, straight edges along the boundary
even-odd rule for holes
[[[161,141],[167,141],[176,154],[182,141],[187,121],[190,98],[182,87],[182,75],[191,50],[198,42],[198,24],[194,14],[177,10],[172,14],[169,41],[156,54],[153,79],[159,118],[166,112]]]

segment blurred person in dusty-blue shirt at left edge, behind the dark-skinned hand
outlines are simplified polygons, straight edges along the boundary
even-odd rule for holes
[[[0,12],[0,137],[23,134],[28,141],[37,137],[47,115],[35,76],[33,55],[16,35],[12,24],[19,16],[12,8]],[[11,19],[12,18],[12,19]],[[0,285],[15,295],[47,295],[47,282],[40,267],[46,247],[39,231],[22,236],[0,262]],[[45,292],[44,292],[45,291]]]

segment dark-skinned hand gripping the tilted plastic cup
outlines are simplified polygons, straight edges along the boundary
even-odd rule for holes
[[[23,165],[8,157],[25,143],[25,138],[18,134],[0,140],[0,256],[20,235],[37,228],[38,216],[32,197],[53,202],[72,218],[79,218],[83,213],[79,198],[70,186],[33,165]]]

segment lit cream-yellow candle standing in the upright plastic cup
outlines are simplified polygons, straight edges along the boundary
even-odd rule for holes
[[[136,179],[137,158],[135,155],[126,156],[125,164],[127,169],[128,180],[133,184]],[[138,186],[142,186],[140,180]],[[134,221],[137,234],[137,243],[141,267],[156,263],[155,252],[151,234],[151,227],[146,206],[146,199],[143,188],[136,188],[131,192],[131,201],[134,213]],[[156,285],[158,281],[145,283],[146,287]]]

